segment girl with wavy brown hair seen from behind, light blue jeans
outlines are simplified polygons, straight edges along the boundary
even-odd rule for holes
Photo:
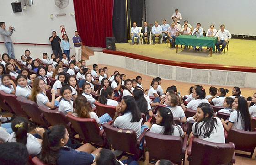
[[[79,95],[75,99],[74,116],[81,118],[94,118],[101,129],[102,124],[113,121],[113,119],[107,113],[105,113],[101,117],[98,117],[97,114],[91,109],[90,103],[88,102],[86,97],[83,95]]]

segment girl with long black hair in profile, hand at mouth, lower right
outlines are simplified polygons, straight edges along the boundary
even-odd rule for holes
[[[193,124],[190,137],[196,136],[199,139],[213,143],[225,143],[224,128],[221,120],[214,117],[214,111],[210,104],[201,103],[197,108],[197,113],[193,117],[196,121]]]

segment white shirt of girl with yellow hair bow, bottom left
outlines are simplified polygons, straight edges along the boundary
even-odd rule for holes
[[[8,142],[16,142],[15,133],[11,133]],[[27,151],[30,155],[38,155],[41,152],[41,143],[32,134],[27,133]]]

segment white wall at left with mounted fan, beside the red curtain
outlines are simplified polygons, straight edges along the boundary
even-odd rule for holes
[[[65,25],[71,46],[73,46],[72,37],[76,30],[73,0],[69,0],[69,5],[64,9],[59,9],[54,0],[33,0],[34,5],[27,7],[26,11],[13,13],[11,2],[14,0],[0,0],[0,21],[4,21],[9,27],[15,27],[16,32],[11,36],[13,42],[17,43],[43,43],[50,44],[49,37],[55,30],[61,37],[60,25]],[[66,16],[56,17],[55,14],[66,13]],[[53,14],[53,19],[50,15]],[[0,37],[0,41],[3,41]],[[51,54],[51,46],[33,46],[33,45],[14,45],[16,58],[24,53],[25,49],[30,49],[33,57],[42,58],[44,52]],[[6,53],[5,45],[0,43],[0,53]],[[71,54],[74,54],[74,48]]]

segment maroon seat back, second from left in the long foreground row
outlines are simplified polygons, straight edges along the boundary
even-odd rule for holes
[[[37,103],[22,96],[18,96],[17,101],[19,101],[19,103],[21,104],[24,112],[26,112],[26,114],[32,118],[33,122],[43,127],[48,127],[48,123],[43,120],[41,112],[38,110]]]

